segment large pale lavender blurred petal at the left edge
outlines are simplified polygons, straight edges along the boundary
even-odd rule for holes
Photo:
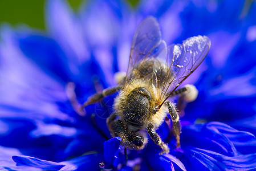
[[[5,33],[0,46],[1,82],[0,108],[1,116],[42,117],[70,120],[66,114],[59,111],[56,101],[66,101],[64,86],[51,78],[40,68],[27,59],[19,50],[18,42],[11,30]],[[35,115],[34,113],[43,113]]]

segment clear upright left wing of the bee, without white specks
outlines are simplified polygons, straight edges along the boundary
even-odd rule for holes
[[[127,79],[138,62],[148,57],[166,56],[166,43],[161,39],[161,31],[156,18],[148,17],[137,28],[132,40]]]

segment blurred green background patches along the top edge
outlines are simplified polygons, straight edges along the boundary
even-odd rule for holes
[[[75,11],[78,11],[83,0],[68,0]],[[132,6],[138,1],[128,0]],[[17,26],[20,23],[32,28],[45,29],[44,26],[44,3],[45,0],[12,0],[0,1],[0,23],[8,22],[11,26]]]

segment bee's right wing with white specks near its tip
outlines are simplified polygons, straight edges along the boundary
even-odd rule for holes
[[[172,44],[168,47],[167,64],[170,80],[162,88],[164,101],[180,84],[188,78],[194,70],[202,63],[210,48],[210,39],[207,36],[194,36],[182,42],[182,44]],[[168,64],[169,62],[169,64]],[[164,103],[164,101],[162,103]]]

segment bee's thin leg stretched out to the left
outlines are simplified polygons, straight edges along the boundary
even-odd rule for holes
[[[80,110],[83,111],[83,108],[86,107],[87,105],[94,104],[97,101],[100,101],[101,99],[103,99],[105,96],[109,96],[112,93],[119,91],[121,88],[122,87],[112,87],[112,88],[103,89],[102,92],[96,93],[95,95],[92,95],[91,97],[89,97],[89,99],[82,105]]]

